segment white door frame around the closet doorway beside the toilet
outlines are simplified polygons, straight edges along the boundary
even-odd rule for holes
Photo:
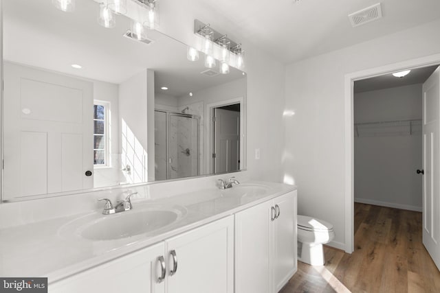
[[[381,67],[348,73],[344,76],[344,211],[345,211],[345,252],[354,251],[354,119],[353,119],[353,84],[357,80],[375,76],[417,69],[440,64],[440,54],[424,56],[397,62]]]

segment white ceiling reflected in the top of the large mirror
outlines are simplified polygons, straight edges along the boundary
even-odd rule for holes
[[[124,38],[129,19],[118,15],[116,27],[106,29],[96,21],[98,3],[76,1],[76,13],[60,12],[49,0],[3,1],[4,59],[115,84],[152,69],[155,89],[167,86],[174,97],[243,78],[232,67],[226,75],[202,75],[203,56],[188,61],[183,43],[157,31],[148,31],[150,45]]]

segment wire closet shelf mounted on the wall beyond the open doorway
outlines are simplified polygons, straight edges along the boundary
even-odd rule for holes
[[[421,134],[421,119],[354,124],[355,137],[396,137]]]

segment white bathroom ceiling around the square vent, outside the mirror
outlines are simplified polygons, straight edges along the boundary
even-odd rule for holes
[[[439,0],[199,1],[228,19],[222,31],[245,36],[285,63],[440,18]],[[351,27],[349,14],[378,2],[382,3],[382,19]]]

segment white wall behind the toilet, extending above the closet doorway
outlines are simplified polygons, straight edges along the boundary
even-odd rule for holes
[[[286,67],[285,110],[295,114],[285,116],[285,176],[298,185],[298,213],[333,224],[333,246],[345,244],[344,75],[438,54],[439,30],[434,21]]]

